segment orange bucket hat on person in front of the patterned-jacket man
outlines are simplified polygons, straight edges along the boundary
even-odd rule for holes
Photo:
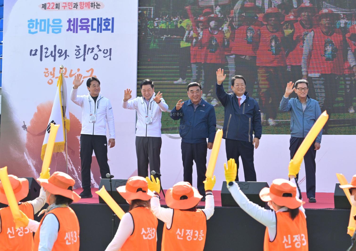
[[[301,199],[295,198],[296,195],[297,186],[284,179],[273,180],[271,187],[264,187],[260,192],[262,201],[273,201],[277,205],[290,209],[298,208],[305,203]]]

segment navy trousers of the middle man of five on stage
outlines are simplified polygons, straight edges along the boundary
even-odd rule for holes
[[[208,151],[208,143],[188,144],[182,141],[180,148],[182,149],[183,160],[183,181],[193,185],[193,160],[197,166],[197,188],[200,195],[205,196],[204,183],[206,173],[206,153]]]

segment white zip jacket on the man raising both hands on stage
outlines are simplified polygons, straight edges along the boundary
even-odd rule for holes
[[[136,136],[138,137],[161,137],[161,118],[162,112],[167,112],[168,105],[164,99],[156,103],[153,99],[156,93],[153,93],[150,101],[147,103],[144,97],[137,97],[133,100],[124,102],[122,100],[122,107],[125,109],[136,110]],[[152,123],[146,124],[146,116],[152,117]]]

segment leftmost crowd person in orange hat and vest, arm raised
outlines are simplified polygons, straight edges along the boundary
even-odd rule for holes
[[[19,208],[28,218],[33,220],[34,215],[46,204],[46,193],[43,187],[40,190],[40,196],[33,201],[20,202],[28,194],[28,180],[18,178],[15,175],[8,175],[12,190],[15,193]],[[40,175],[41,178],[49,178],[47,175]],[[2,183],[0,182],[0,203],[8,204]],[[2,251],[32,251],[33,234],[27,227],[15,228],[14,218],[12,217],[10,207],[0,208],[0,250]]]

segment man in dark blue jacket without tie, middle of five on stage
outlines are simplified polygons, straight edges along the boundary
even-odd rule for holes
[[[204,183],[207,149],[213,148],[216,117],[212,105],[201,98],[203,92],[197,82],[188,85],[189,100],[179,100],[171,111],[171,118],[180,119],[179,135],[182,137],[183,178],[193,185],[193,160],[197,165],[197,188],[205,200]],[[208,138],[208,143],[206,143]]]

